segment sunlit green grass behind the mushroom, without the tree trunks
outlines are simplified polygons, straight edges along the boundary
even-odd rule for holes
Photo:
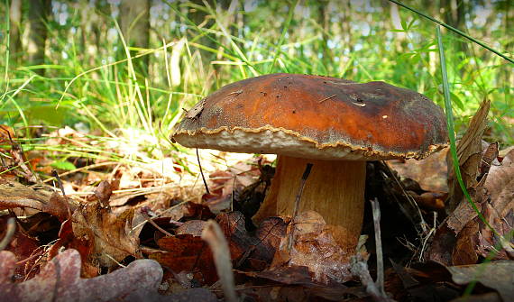
[[[436,56],[434,20],[406,9],[400,8],[401,28],[394,29],[387,12],[359,12],[353,8],[347,18],[356,25],[348,29],[335,11],[327,14],[339,22],[322,23],[321,7],[314,1],[301,5],[289,2],[289,11],[278,4],[261,4],[251,12],[239,7],[234,13],[239,21],[228,20],[229,16],[214,5],[168,5],[167,12],[175,24],[162,23],[154,28],[152,48],[140,50],[135,56],[116,21],[94,9],[84,15],[95,16],[104,24],[97,37],[101,42],[95,46],[96,53],[90,53],[91,45],[79,38],[84,33],[78,32],[80,26],[87,20],[78,14],[71,14],[65,25],[48,23],[50,50],[44,65],[9,63],[8,38],[4,36],[4,46],[0,46],[0,50],[6,50],[6,58],[1,60],[5,71],[5,92],[0,97],[2,124],[24,127],[25,131],[17,134],[25,138],[34,135],[29,128],[34,124],[85,124],[90,131],[106,137],[129,140],[134,138],[126,137],[125,129],[138,129],[151,135],[152,142],[158,144],[155,148],[166,153],[172,149],[168,136],[183,108],[236,80],[292,72],[356,81],[384,80],[418,90],[441,106],[445,105],[445,96],[440,87],[446,83],[451,91],[457,136],[464,133],[470,117],[487,97],[491,99],[489,139],[502,145],[514,144],[511,53],[475,44],[485,29],[442,36],[445,80]],[[306,6],[310,14],[296,18],[295,10],[305,10]],[[195,23],[192,9],[205,12],[208,22]],[[363,30],[366,26],[368,32]],[[9,28],[8,20],[4,27]],[[71,32],[73,28],[75,33]],[[512,40],[508,29],[492,33],[500,45]],[[463,44],[467,52],[461,50]],[[148,78],[134,69],[145,56],[150,57]],[[34,73],[36,69],[44,69],[45,76]]]

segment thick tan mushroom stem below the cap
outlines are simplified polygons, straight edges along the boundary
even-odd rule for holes
[[[279,156],[270,191],[253,221],[293,214],[298,185],[307,163],[314,166],[302,192],[299,212],[314,210],[322,215],[335,241],[345,252],[353,254],[363,225],[365,161]]]

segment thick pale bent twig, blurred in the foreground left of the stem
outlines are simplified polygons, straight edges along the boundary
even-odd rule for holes
[[[239,299],[235,294],[234,274],[230,260],[230,250],[221,227],[214,220],[208,220],[202,231],[202,239],[205,240],[211,251],[216,264],[216,272],[219,276],[221,287],[225,295],[225,301],[237,302]]]

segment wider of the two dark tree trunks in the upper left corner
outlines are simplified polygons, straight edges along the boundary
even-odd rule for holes
[[[45,45],[48,34],[46,26],[50,12],[50,0],[29,1],[27,55],[30,65],[41,65],[44,63]],[[36,69],[36,72],[43,75],[44,69]]]

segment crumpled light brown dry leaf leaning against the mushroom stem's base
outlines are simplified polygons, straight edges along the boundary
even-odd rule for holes
[[[300,213],[288,227],[288,234],[281,240],[275,253],[271,270],[283,266],[305,266],[314,279],[323,284],[342,283],[352,279],[350,256],[327,231],[325,220],[317,212]],[[289,233],[293,232],[290,251]]]

